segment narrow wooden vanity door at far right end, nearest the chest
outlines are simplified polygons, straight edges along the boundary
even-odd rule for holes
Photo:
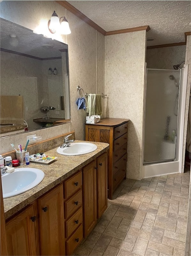
[[[97,218],[107,208],[107,153],[97,157]]]

